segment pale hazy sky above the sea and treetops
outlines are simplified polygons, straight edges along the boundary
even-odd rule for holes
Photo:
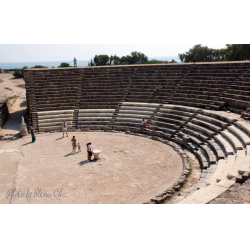
[[[96,54],[129,55],[132,51],[146,56],[178,56],[195,44],[0,44],[0,62],[47,62],[90,60]],[[213,49],[225,48],[225,44],[202,44]]]

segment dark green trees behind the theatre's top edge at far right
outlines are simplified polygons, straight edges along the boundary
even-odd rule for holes
[[[181,62],[193,62],[195,55],[198,62],[250,60],[250,44],[226,44],[224,49],[211,49],[197,44],[178,56]]]

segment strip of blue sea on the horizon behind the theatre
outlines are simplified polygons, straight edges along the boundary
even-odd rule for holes
[[[156,59],[159,61],[172,61],[173,59],[180,63],[180,59],[178,56],[163,56],[163,57],[149,57],[149,60]],[[36,65],[42,65],[46,66],[48,68],[55,67],[57,68],[59,65],[61,65],[62,62],[69,63],[70,66],[74,66],[73,59],[71,61],[48,61],[48,62],[0,62],[0,69],[21,69],[24,66],[31,68]],[[88,66],[88,63],[90,60],[78,60],[77,66],[78,67],[85,67]]]

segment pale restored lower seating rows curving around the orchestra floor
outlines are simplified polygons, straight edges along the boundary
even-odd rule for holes
[[[74,110],[38,112],[39,130],[70,126]],[[119,130],[141,133],[147,120],[147,135],[172,140],[189,148],[202,167],[199,184],[183,204],[208,203],[234,182],[250,177],[250,124],[235,114],[193,107],[123,102],[116,109],[82,109],[78,129]]]

